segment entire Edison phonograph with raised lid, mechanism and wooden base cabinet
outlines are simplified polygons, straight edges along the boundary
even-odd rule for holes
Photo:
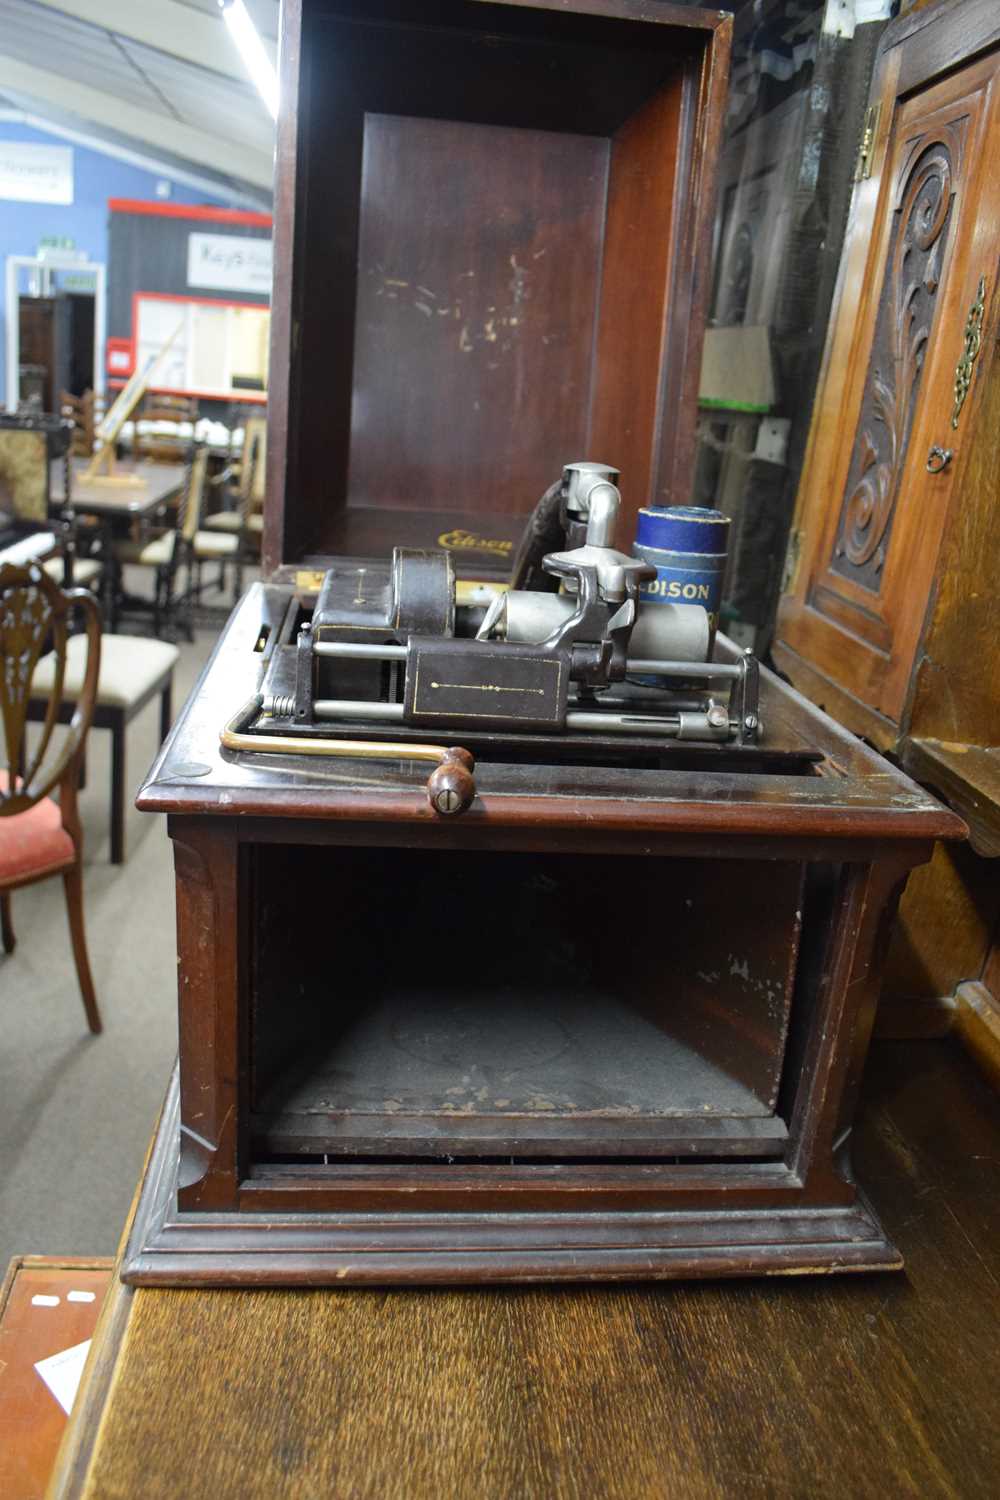
[[[180,1070],[129,1281],[900,1264],[852,1118],[964,826],[675,603],[729,34],[283,8],[264,582],[139,795]]]

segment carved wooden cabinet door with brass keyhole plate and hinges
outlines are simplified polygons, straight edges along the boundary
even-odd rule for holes
[[[928,45],[933,30],[918,32],[910,56],[906,42],[889,48],[876,74],[882,170],[855,194],[775,646],[811,696],[835,688],[826,706],[856,729],[868,728],[865,710],[886,724],[904,712],[972,438],[957,369],[975,350],[1000,249],[1000,50],[921,84],[921,56],[934,75],[952,62],[940,34]],[[963,368],[975,380],[975,358]]]

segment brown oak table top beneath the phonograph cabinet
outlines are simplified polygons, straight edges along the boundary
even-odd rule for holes
[[[49,1497],[994,1494],[997,1098],[879,1044],[858,1132],[901,1275],[118,1286]]]

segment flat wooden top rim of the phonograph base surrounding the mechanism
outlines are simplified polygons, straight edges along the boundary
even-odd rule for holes
[[[633,837],[640,832],[696,832],[700,837],[712,832],[727,837],[777,832],[784,838],[796,834],[807,838],[832,836],[846,842],[966,837],[961,819],[766,669],[762,669],[765,698],[775,694],[783,708],[792,708],[802,718],[801,726],[796,720],[796,732],[808,740],[813,730],[834,759],[843,753],[850,772],[831,777],[747,772],[723,777],[706,772],[699,783],[700,795],[693,795],[690,772],[658,771],[652,782],[640,778],[616,784],[600,795],[594,795],[586,783],[531,794],[522,786],[505,784],[502,764],[493,766],[487,762],[477,771],[475,801],[454,819],[442,819],[430,808],[424,778],[418,774],[421,768],[412,762],[406,762],[409,770],[402,770],[400,762],[399,776],[388,784],[354,784],[351,776],[357,774],[360,780],[360,770],[345,772],[336,784],[306,782],[297,786],[273,776],[270,780],[256,777],[244,782],[234,774],[240,759],[220,748],[222,723],[216,722],[216,712],[222,717],[222,711],[216,708],[213,692],[217,688],[223,702],[231,698],[240,704],[259,687],[265,657],[253,651],[253,644],[262,618],[276,624],[273,615],[279,606],[283,615],[282,600],[274,598],[280,592],[255,584],[237,606],[187,708],[139,790],[139,810],[231,816],[238,806],[241,822],[250,816],[319,818],[324,824],[345,820],[367,822],[370,826],[391,822],[406,825],[408,831],[423,828],[441,840],[453,837],[454,830],[481,834],[484,824],[495,837],[505,828],[532,828],[543,820],[550,830],[586,828],[588,834],[601,840],[616,830],[628,830]],[[720,638],[720,660],[735,654],[732,642]],[[768,711],[765,706],[765,714]],[[190,764],[180,759],[175,747],[181,742],[198,759],[202,774],[192,776]],[[351,766],[349,759],[340,764]],[[310,766],[301,770],[306,776]],[[586,798],[586,816],[582,816],[582,798]],[[463,834],[459,832],[459,837]]]

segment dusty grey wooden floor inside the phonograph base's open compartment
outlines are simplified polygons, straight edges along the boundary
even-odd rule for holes
[[[784,1124],[663,1012],[600,990],[382,993],[286,1065],[255,1134],[276,1155],[780,1152]]]

